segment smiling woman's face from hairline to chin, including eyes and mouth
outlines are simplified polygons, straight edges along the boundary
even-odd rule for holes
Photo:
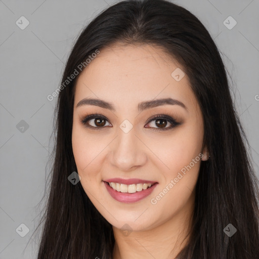
[[[202,141],[202,115],[188,77],[158,48],[106,48],[79,75],[72,130],[77,172],[114,227],[150,230],[186,217],[207,159]]]

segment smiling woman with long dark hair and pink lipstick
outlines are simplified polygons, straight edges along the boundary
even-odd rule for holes
[[[193,14],[163,0],[109,7],[58,92],[38,259],[258,258],[247,140]]]

